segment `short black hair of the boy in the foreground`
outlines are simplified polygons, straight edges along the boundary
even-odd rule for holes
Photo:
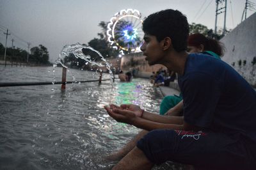
[[[156,36],[158,42],[167,36],[170,37],[173,49],[177,52],[187,49],[188,20],[178,10],[169,9],[152,13],[143,21],[142,29],[144,33]]]

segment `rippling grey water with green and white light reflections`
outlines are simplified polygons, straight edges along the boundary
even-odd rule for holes
[[[52,81],[52,69],[0,66],[0,82]],[[60,81],[61,68],[54,69]],[[74,77],[77,83],[67,84],[65,91],[60,84],[0,88],[0,169],[111,169],[116,162],[102,158],[140,129],[116,122],[103,106],[111,100],[159,110],[161,92],[147,79],[116,79],[112,88],[110,81],[79,83],[99,77],[68,68],[67,81]]]

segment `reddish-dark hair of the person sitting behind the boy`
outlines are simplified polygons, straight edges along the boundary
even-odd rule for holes
[[[223,56],[224,54],[224,45],[220,41],[206,37],[200,33],[189,35],[188,46],[199,47],[201,44],[204,45],[204,50],[211,50],[218,54],[218,56]]]

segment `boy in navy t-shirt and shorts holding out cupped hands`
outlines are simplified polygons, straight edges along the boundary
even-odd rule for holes
[[[255,169],[256,92],[248,82],[220,59],[186,52],[188,21],[177,10],[149,15],[143,31],[148,64],[179,74],[184,116],[106,106],[116,121],[150,131],[113,169],[150,169],[166,160],[195,169]]]

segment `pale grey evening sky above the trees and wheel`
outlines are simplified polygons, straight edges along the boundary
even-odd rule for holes
[[[244,5],[245,0],[227,0],[227,29],[241,23]],[[8,28],[11,33],[8,47],[12,46],[12,38],[15,47],[26,50],[26,42],[30,42],[31,47],[42,44],[54,61],[64,45],[87,44],[99,38],[99,22],[107,22],[116,12],[127,8],[139,10],[142,17],[172,8],[184,13],[190,24],[195,22],[214,29],[215,0],[0,0],[0,42],[5,45],[4,33]],[[255,10],[248,10],[247,17],[253,12]],[[218,18],[220,29],[224,14]]]

